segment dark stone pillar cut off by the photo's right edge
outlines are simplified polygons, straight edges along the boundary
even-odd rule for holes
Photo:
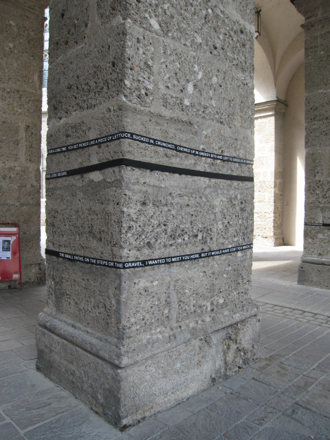
[[[294,5],[305,17],[305,230],[298,283],[329,289],[330,3]]]

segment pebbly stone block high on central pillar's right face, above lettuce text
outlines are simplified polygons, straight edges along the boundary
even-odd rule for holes
[[[189,118],[197,118],[201,114],[205,119],[217,120],[227,126],[239,118],[241,127],[250,126],[251,115],[244,108],[244,98],[251,100],[246,87],[250,79],[245,80],[240,69],[233,67],[229,84],[225,80],[226,69],[219,59],[210,54],[204,58],[201,63],[199,52],[188,51],[172,41],[162,42],[162,68],[159,69],[159,99],[162,104],[173,114],[179,112]],[[234,91],[242,100],[232,99]]]

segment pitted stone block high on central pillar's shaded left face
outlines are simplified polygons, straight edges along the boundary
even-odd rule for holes
[[[94,109],[120,93],[126,28],[124,23],[118,23],[108,34],[101,31],[99,28],[99,34],[90,38],[89,44],[79,45],[53,63],[50,58],[49,76],[54,78],[47,86],[50,121],[78,110]],[[50,54],[53,47],[50,38]]]

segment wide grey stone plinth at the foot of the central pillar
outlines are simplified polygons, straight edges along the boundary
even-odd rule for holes
[[[117,358],[119,350],[110,340],[47,313],[39,316],[36,336],[37,369],[122,428],[197,394],[254,360],[259,318],[250,316],[124,367],[109,360]]]

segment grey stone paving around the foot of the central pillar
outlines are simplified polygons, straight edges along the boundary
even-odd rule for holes
[[[296,284],[300,256],[254,250],[259,360],[124,432],[36,372],[45,287],[0,290],[0,439],[330,439],[330,291]]]

